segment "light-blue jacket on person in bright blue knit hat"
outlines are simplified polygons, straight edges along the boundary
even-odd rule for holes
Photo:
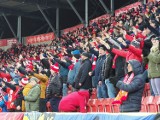
[[[69,84],[73,85],[73,83],[75,82],[75,77],[78,74],[80,66],[81,66],[81,60],[78,60],[78,62],[75,63],[73,70],[69,70],[68,80],[67,80]]]

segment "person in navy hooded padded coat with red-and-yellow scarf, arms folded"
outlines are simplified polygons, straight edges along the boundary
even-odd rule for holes
[[[127,64],[127,74],[116,85],[120,92],[113,104],[121,104],[121,112],[139,112],[147,74],[146,72],[145,75],[142,74],[142,66],[139,61],[129,60]]]

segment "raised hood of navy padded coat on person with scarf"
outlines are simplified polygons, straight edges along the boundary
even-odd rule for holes
[[[137,60],[129,60],[128,63],[132,66],[134,75],[142,74],[143,68],[139,61]]]

